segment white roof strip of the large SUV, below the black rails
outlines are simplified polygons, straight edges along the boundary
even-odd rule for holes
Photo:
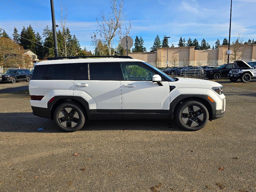
[[[88,58],[88,59],[57,59],[47,60],[35,63],[35,65],[50,65],[61,63],[104,63],[104,62],[144,62],[139,59],[123,59],[123,58]]]

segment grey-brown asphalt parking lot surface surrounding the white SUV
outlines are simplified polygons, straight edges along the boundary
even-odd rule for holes
[[[111,120],[63,133],[29,94],[0,94],[0,191],[256,191],[256,79],[216,81],[226,115],[195,132]]]

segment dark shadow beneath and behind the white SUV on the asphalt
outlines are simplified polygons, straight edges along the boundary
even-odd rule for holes
[[[31,112],[0,113],[0,122],[0,132],[62,132],[54,121],[34,116]],[[39,128],[43,130],[37,131]],[[79,131],[102,130],[184,131],[168,120],[89,120]]]

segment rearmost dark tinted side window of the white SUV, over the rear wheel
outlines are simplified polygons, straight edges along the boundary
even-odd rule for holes
[[[31,80],[74,80],[74,64],[36,65]]]

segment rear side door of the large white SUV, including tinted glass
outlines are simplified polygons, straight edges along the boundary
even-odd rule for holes
[[[87,100],[90,119],[122,119],[118,64],[76,63],[74,96]]]

